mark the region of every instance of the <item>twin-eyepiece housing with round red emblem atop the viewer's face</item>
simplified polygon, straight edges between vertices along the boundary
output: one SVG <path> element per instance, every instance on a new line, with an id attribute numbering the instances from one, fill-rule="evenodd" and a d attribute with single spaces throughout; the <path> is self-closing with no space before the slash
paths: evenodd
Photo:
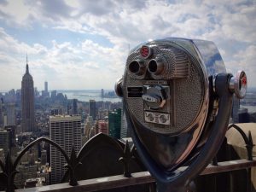
<path id="1" fill-rule="evenodd" d="M 178 79 L 189 75 L 189 58 L 178 49 L 144 45 L 139 53 L 127 65 L 134 79 Z"/>

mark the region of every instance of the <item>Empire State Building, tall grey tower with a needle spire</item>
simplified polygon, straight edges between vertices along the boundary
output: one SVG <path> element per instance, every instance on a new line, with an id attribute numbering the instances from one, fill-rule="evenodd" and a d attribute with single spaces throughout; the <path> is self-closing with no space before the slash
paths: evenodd
<path id="1" fill-rule="evenodd" d="M 21 128 L 22 132 L 35 131 L 34 83 L 26 58 L 26 73 L 21 81 Z"/>

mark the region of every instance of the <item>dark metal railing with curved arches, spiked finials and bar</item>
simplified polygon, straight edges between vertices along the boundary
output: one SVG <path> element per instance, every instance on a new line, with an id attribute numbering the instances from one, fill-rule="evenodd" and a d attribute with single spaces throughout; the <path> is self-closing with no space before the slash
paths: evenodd
<path id="1" fill-rule="evenodd" d="M 247 148 L 247 160 L 230 160 L 230 161 L 224 161 L 224 162 L 217 162 L 217 160 L 214 160 L 214 163 L 212 165 L 207 166 L 207 168 L 201 172 L 201 175 L 208 175 L 208 174 L 214 174 L 214 173 L 220 173 L 220 172 L 232 172 L 235 170 L 241 170 L 241 169 L 250 169 L 253 166 L 256 166 L 256 159 L 253 158 L 253 138 L 251 135 L 251 132 L 249 131 L 246 135 L 244 131 L 241 130 L 241 128 L 237 125 L 230 125 L 228 129 L 235 128 L 243 138 L 245 142 L 245 146 Z M 15 174 L 17 173 L 17 166 L 20 162 L 21 157 L 28 151 L 32 146 L 34 146 L 37 143 L 49 143 L 58 150 L 60 150 L 61 154 L 65 157 L 67 160 L 67 168 L 68 168 L 68 174 L 69 174 L 69 183 L 59 183 L 59 184 L 53 184 L 53 185 L 47 185 L 39 188 L 31 188 L 31 189 L 15 189 Z M 93 179 L 87 179 L 87 180 L 81 180 L 78 181 L 76 177 L 76 167 L 80 164 L 79 155 L 75 154 L 74 148 L 72 149 L 72 153 L 70 157 L 68 157 L 65 150 L 61 148 L 57 143 L 50 140 L 49 138 L 45 137 L 39 137 L 32 143 L 29 143 L 26 148 L 24 148 L 18 157 L 15 159 L 15 162 L 12 163 L 12 160 L 10 158 L 10 155 L 8 154 L 5 158 L 5 162 L 3 163 L 0 160 L 0 166 L 2 168 L 2 173 L 0 174 L 0 179 L 3 179 L 4 183 L 4 191 L 5 192 L 15 192 L 15 191 L 22 191 L 22 192 L 30 192 L 30 191 L 99 191 L 102 189 L 116 189 L 121 187 L 128 187 L 132 185 L 139 185 L 139 184 L 145 184 L 150 183 L 150 191 L 154 191 L 154 177 L 150 175 L 149 172 L 136 172 L 131 173 L 130 172 L 130 161 L 133 157 L 133 154 L 135 152 L 134 146 L 132 148 L 129 147 L 128 142 L 125 143 L 125 149 L 123 152 L 123 155 L 119 158 L 119 161 L 123 162 L 124 167 L 124 174 L 118 175 L 118 176 L 112 176 L 112 177 L 101 177 L 101 178 L 93 178 Z M 186 166 L 180 167 L 180 170 L 186 169 Z M 251 174 L 251 172 L 249 172 Z"/>

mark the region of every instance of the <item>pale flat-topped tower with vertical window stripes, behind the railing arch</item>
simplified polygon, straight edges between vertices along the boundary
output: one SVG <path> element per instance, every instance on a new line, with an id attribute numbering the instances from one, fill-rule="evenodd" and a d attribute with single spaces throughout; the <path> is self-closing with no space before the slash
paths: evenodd
<path id="1" fill-rule="evenodd" d="M 76 154 L 82 146 L 80 116 L 49 116 L 49 137 L 70 156 L 74 146 Z M 64 156 L 55 147 L 50 146 L 51 183 L 60 183 L 66 164 Z"/>

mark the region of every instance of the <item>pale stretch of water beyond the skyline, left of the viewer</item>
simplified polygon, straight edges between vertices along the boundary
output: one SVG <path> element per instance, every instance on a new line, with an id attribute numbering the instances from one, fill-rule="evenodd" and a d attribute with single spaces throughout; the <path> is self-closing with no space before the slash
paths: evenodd
<path id="1" fill-rule="evenodd" d="M 113 90 L 104 90 L 104 93 L 108 93 Z M 101 90 L 57 90 L 57 93 L 63 93 L 67 95 L 68 99 L 78 99 L 81 102 L 89 102 L 90 99 L 94 99 L 96 102 L 121 102 L 119 97 L 105 97 L 102 98 Z"/>

